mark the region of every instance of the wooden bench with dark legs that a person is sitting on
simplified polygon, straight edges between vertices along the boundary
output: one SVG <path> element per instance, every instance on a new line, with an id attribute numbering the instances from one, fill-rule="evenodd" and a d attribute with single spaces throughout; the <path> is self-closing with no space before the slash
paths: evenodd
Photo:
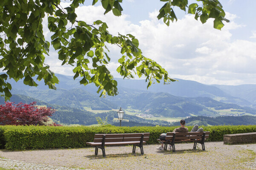
<path id="1" fill-rule="evenodd" d="M 175 152 L 175 143 L 176 142 L 194 142 L 193 149 L 196 149 L 197 143 L 202 144 L 202 149 L 205 150 L 204 140 L 209 138 L 210 132 L 168 132 L 166 134 L 166 141 L 157 139 L 165 143 L 164 150 L 167 150 L 167 145 L 172 145 L 172 151 Z"/>

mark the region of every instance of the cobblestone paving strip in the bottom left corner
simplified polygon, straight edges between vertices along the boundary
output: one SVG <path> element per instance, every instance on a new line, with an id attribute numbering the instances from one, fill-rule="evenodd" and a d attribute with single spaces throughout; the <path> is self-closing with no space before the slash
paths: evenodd
<path id="1" fill-rule="evenodd" d="M 0 165 L 3 168 L 12 168 L 16 170 L 81 170 L 79 168 L 70 168 L 70 167 L 56 167 L 44 164 L 32 164 L 22 161 L 14 161 L 10 159 L 0 158 Z M 85 169 L 89 170 L 89 169 Z"/>

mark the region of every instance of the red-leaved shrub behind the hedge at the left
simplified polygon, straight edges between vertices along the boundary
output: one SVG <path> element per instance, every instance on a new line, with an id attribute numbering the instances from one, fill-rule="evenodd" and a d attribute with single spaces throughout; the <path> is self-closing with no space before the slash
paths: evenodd
<path id="1" fill-rule="evenodd" d="M 46 125 L 55 112 L 52 108 L 37 108 L 36 102 L 30 104 L 5 102 L 0 105 L 0 125 Z"/>

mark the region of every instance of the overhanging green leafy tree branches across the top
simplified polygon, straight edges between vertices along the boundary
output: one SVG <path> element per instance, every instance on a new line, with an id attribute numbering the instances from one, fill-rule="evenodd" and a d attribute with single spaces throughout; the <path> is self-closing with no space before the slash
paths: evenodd
<path id="1" fill-rule="evenodd" d="M 188 4 L 188 0 L 160 0 L 165 2 L 159 10 L 158 19 L 163 18 L 169 26 L 170 21 L 177 21 L 174 7 L 177 6 L 195 19 L 205 23 L 214 18 L 214 28 L 221 29 L 225 12 L 218 0 L 197 0 L 199 3 Z M 98 0 L 93 0 L 95 5 Z M 111 57 L 108 56 L 108 44 L 120 47 L 119 67 L 117 71 L 124 78 L 145 76 L 148 87 L 155 80 L 165 83 L 175 81 L 157 62 L 142 55 L 139 41 L 131 34 L 112 35 L 108 26 L 101 20 L 85 23 L 77 20 L 76 8 L 84 0 L 71 0 L 70 6 L 62 8 L 61 0 L 0 0 L 0 68 L 6 71 L 0 75 L 0 92 L 5 98 L 12 96 L 12 86 L 8 79 L 29 86 L 37 86 L 32 77 L 38 81 L 44 79 L 45 85 L 56 89 L 58 78 L 44 63 L 45 55 L 49 55 L 50 44 L 58 51 L 58 59 L 62 65 L 73 65 L 74 79 L 81 77 L 80 83 L 94 83 L 98 93 L 117 95 L 117 82 L 106 67 Z M 98 2 L 99 3 L 99 2 Z M 122 0 L 101 0 L 105 13 L 112 11 L 114 15 L 122 14 Z M 47 16 L 48 28 L 52 32 L 51 43 L 43 34 L 42 19 Z"/>

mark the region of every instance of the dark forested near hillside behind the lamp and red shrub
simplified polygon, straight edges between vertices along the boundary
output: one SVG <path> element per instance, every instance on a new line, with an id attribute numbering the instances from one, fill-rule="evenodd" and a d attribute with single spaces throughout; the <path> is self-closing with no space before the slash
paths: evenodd
<path id="1" fill-rule="evenodd" d="M 100 98 L 99 98 L 100 99 Z M 19 102 L 23 103 L 31 103 L 37 102 L 37 105 L 45 105 L 52 109 L 55 109 L 55 113 L 50 117 L 55 122 L 70 125 L 70 124 L 79 124 L 79 125 L 93 125 L 97 124 L 96 117 L 100 117 L 102 120 L 106 120 L 108 124 L 115 123 L 114 118 L 118 118 L 116 111 L 109 111 L 104 113 L 92 113 L 90 111 L 85 111 L 84 109 L 70 107 L 70 106 L 60 106 L 55 104 L 49 104 L 46 102 L 42 102 L 38 99 L 31 98 L 29 96 L 24 95 L 16 95 L 14 94 L 11 98 L 11 102 L 15 102 L 16 104 Z M 93 103 L 93 102 L 91 102 Z M 0 97 L 0 104 L 4 104 L 3 97 Z M 125 114 L 124 119 L 128 120 L 129 125 L 169 125 L 169 122 L 160 121 L 160 120 L 148 120 L 144 118 L 140 118 L 134 115 Z"/>

